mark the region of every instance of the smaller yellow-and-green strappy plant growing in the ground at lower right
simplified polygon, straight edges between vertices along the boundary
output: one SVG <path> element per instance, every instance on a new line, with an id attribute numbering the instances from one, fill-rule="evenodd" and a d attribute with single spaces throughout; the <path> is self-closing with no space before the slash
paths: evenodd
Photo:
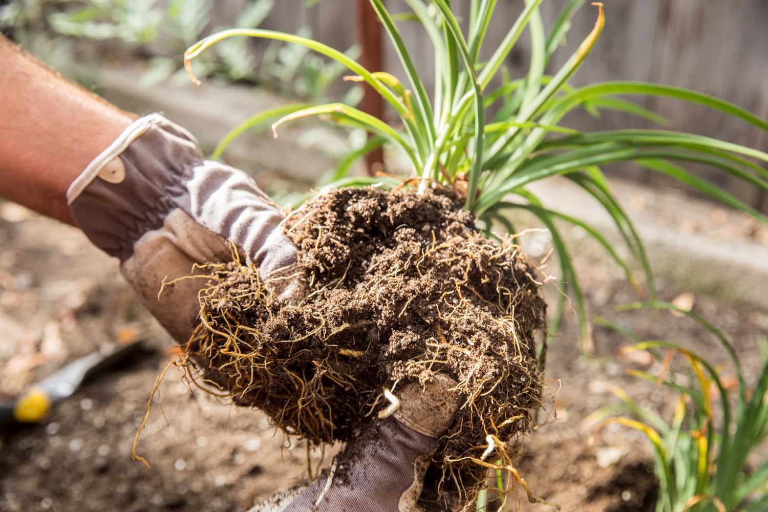
<path id="1" fill-rule="evenodd" d="M 674 418 L 666 421 L 653 411 L 637 405 L 624 391 L 614 388 L 621 399 L 618 405 L 602 408 L 591 415 L 601 424 L 618 423 L 643 432 L 651 442 L 656 461 L 660 492 L 657 512 L 703 510 L 742 510 L 760 512 L 768 508 L 768 461 L 750 467 L 748 459 L 768 438 L 768 357 L 753 388 L 746 385 L 741 364 L 733 346 L 722 332 L 699 315 L 684 312 L 665 302 L 628 306 L 650 307 L 687 315 L 703 325 L 726 349 L 737 374 L 737 398 L 723 382 L 720 372 L 697 353 L 665 340 L 645 341 L 605 320 L 601 325 L 631 336 L 636 342 L 625 351 L 647 350 L 657 355 L 667 350 L 662 375 L 632 370 L 630 373 L 650 382 L 662 382 L 679 398 Z M 668 372 L 672 357 L 683 355 L 690 365 L 684 382 Z M 735 402 L 735 411 L 733 404 Z M 717 408 L 721 418 L 717 417 Z M 629 414 L 626 416 L 615 416 Z"/>

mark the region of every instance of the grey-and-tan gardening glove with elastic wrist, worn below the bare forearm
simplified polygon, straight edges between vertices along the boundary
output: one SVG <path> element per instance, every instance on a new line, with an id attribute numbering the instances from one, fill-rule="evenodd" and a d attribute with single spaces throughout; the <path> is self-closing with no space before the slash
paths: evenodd
<path id="1" fill-rule="evenodd" d="M 281 269 L 296 261 L 296 248 L 278 227 L 280 210 L 256 183 L 204 160 L 187 130 L 159 114 L 127 127 L 71 183 L 67 202 L 75 223 L 120 259 L 141 302 L 178 342 L 197 324 L 204 274 L 180 279 L 158 297 L 164 281 L 190 276 L 195 264 L 239 256 L 278 282 Z"/>

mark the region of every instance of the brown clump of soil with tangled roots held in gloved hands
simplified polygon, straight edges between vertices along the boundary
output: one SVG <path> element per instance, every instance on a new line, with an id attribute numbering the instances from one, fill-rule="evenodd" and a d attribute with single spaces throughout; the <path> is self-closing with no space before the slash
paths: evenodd
<path id="1" fill-rule="evenodd" d="M 286 299 L 240 263 L 209 266 L 187 347 L 206 378 L 320 444 L 356 438 L 387 405 L 383 388 L 451 375 L 465 401 L 433 466 L 468 503 L 485 484 L 487 436 L 499 441 L 488 461 L 511 467 L 504 441 L 539 403 L 534 266 L 513 243 L 485 239 L 442 190 L 333 190 L 283 229 L 299 250 L 280 282 L 306 293 Z"/>

